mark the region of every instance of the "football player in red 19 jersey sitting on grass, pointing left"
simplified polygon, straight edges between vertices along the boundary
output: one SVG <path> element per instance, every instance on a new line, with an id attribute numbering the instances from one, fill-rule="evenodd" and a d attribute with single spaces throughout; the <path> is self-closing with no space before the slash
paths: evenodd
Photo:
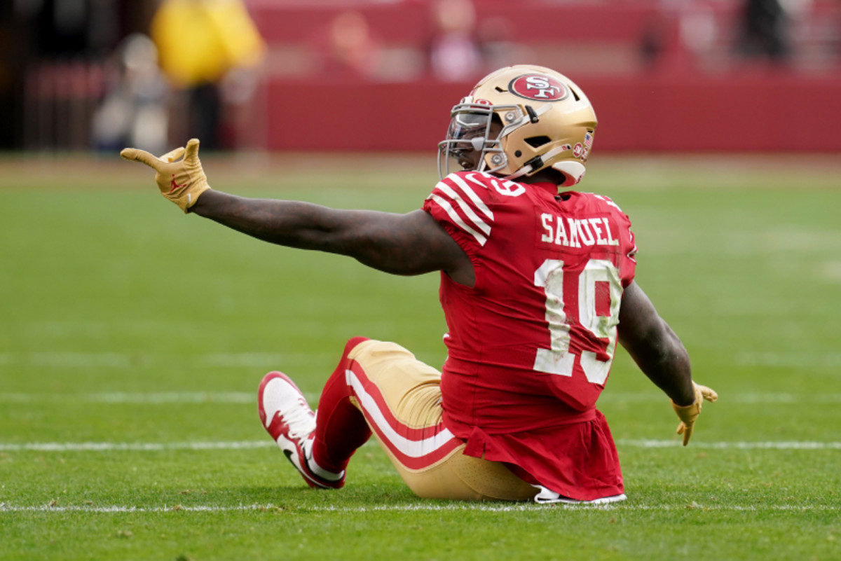
<path id="1" fill-rule="evenodd" d="M 336 210 L 212 190 L 198 140 L 156 158 L 184 212 L 274 244 L 349 255 L 397 275 L 441 271 L 442 371 L 396 343 L 352 338 L 315 415 L 288 375 L 258 390 L 263 427 L 312 487 L 340 488 L 373 434 L 416 495 L 605 503 L 625 499 L 595 408 L 616 343 L 669 396 L 689 442 L 704 400 L 680 339 L 634 282 L 631 223 L 574 191 L 596 118 L 568 77 L 540 66 L 486 76 L 452 109 L 441 181 L 407 214 Z M 453 163 L 462 170 L 450 172 Z"/>

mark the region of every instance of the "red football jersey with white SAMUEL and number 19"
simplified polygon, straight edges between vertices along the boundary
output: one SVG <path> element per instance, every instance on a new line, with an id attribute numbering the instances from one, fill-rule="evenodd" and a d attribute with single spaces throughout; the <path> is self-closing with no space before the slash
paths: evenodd
<path id="1" fill-rule="evenodd" d="M 636 265 L 627 216 L 607 197 L 475 171 L 444 178 L 423 208 L 476 275 L 468 288 L 442 273 L 440 288 L 444 422 L 465 454 L 574 499 L 620 494 L 595 401 Z"/>

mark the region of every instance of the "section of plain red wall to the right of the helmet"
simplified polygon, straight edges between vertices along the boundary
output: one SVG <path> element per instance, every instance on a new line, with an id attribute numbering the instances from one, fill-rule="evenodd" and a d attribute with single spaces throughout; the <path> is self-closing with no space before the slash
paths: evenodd
<path id="1" fill-rule="evenodd" d="M 841 151 L 841 77 L 810 80 L 784 73 L 585 83 L 603 149 Z"/>

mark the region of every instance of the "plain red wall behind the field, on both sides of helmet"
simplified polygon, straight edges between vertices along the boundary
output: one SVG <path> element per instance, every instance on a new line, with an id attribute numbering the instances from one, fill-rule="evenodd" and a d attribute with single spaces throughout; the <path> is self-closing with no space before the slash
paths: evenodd
<path id="1" fill-rule="evenodd" d="M 589 77 L 605 150 L 841 151 L 841 77 Z M 269 149 L 428 150 L 472 84 L 268 84 Z"/>

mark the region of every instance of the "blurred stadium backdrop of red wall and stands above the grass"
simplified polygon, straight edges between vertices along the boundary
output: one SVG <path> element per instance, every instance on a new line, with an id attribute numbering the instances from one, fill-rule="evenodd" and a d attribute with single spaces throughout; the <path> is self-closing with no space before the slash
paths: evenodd
<path id="1" fill-rule="evenodd" d="M 841 150 L 836 0 L 8 0 L 0 149 L 430 150 L 524 61 L 597 154 Z"/>

